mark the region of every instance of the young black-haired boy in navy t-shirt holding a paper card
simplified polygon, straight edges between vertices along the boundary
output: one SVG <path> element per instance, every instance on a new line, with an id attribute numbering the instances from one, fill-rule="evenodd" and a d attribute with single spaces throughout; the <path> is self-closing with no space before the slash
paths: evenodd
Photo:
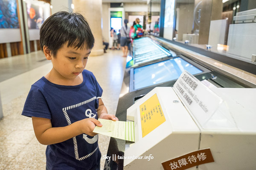
<path id="1" fill-rule="evenodd" d="M 40 46 L 52 70 L 32 85 L 22 115 L 32 117 L 35 136 L 47 144 L 47 170 L 99 170 L 97 120 L 118 120 L 102 102 L 102 88 L 84 70 L 94 37 L 84 17 L 58 12 L 40 30 Z"/>

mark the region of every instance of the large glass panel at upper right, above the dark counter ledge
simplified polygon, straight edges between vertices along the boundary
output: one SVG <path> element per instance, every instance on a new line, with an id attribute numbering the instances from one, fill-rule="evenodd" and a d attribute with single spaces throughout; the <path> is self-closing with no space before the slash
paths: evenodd
<path id="1" fill-rule="evenodd" d="M 175 11 L 174 40 L 252 62 L 256 0 L 177 0 Z"/>

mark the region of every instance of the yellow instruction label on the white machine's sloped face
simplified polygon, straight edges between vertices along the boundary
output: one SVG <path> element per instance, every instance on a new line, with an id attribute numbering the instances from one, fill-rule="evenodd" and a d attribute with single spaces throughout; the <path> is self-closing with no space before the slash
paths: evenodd
<path id="1" fill-rule="evenodd" d="M 154 94 L 140 105 L 142 137 L 166 121 L 157 94 Z"/>

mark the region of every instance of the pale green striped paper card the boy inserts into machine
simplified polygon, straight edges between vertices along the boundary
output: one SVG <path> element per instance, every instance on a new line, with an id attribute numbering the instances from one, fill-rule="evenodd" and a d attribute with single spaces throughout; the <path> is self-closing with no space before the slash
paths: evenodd
<path id="1" fill-rule="evenodd" d="M 94 133 L 134 142 L 134 122 L 98 119 L 102 127 L 96 126 Z"/>

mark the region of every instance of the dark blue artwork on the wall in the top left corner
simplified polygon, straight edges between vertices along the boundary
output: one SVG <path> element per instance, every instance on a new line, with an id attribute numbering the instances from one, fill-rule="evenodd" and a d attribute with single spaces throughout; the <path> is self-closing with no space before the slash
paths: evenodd
<path id="1" fill-rule="evenodd" d="M 0 28 L 19 28 L 16 0 L 0 0 Z"/>

